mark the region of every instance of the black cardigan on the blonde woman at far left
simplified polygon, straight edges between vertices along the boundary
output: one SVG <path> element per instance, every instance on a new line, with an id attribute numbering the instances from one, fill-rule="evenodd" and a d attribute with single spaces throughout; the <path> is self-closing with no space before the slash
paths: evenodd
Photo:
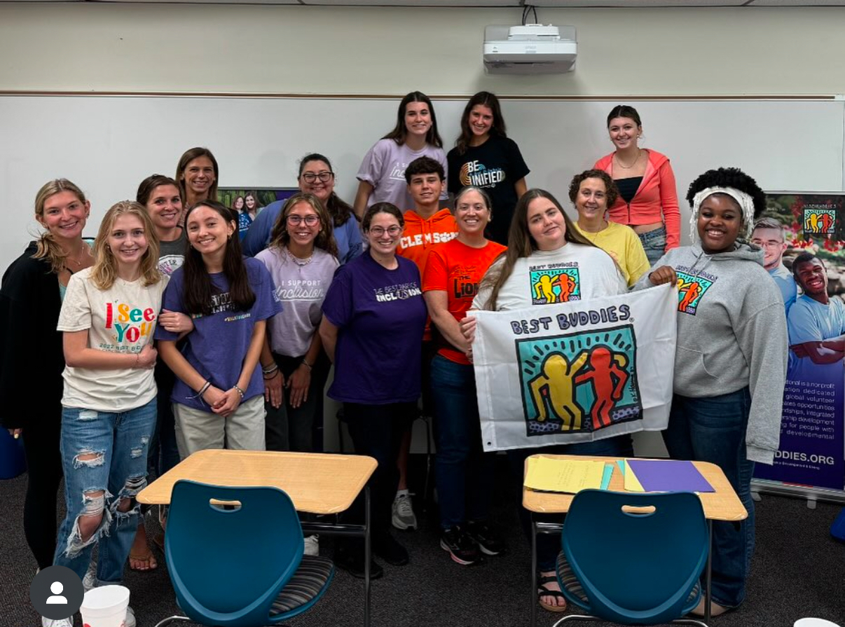
<path id="1" fill-rule="evenodd" d="M 56 330 L 62 309 L 58 276 L 46 259 L 25 253 L 0 287 L 0 423 L 35 428 L 62 420 L 64 352 Z"/>

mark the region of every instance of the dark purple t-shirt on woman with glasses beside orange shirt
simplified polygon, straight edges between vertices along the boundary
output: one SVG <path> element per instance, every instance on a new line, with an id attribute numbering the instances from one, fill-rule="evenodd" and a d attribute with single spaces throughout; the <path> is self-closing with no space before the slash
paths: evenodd
<path id="1" fill-rule="evenodd" d="M 323 303 L 338 327 L 336 401 L 385 405 L 416 401 L 427 309 L 420 272 L 410 259 L 396 257 L 387 270 L 368 252 L 342 265 Z"/>

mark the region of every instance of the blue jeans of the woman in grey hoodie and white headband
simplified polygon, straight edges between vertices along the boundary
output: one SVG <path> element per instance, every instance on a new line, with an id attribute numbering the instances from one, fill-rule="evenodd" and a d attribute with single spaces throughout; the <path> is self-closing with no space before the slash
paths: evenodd
<path id="1" fill-rule="evenodd" d="M 754 462 L 745 455 L 745 429 L 751 408 L 748 388 L 709 398 L 674 395 L 663 441 L 676 460 L 716 464 L 748 511 L 739 523 L 713 523 L 713 601 L 736 608 L 745 598 L 751 554 L 754 553 Z"/>

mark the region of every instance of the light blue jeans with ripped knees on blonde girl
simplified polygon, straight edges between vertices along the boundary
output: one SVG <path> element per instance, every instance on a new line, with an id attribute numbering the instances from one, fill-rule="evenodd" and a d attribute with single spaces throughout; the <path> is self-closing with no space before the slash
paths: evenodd
<path id="1" fill-rule="evenodd" d="M 134 498 L 147 484 L 147 450 L 153 428 L 155 399 L 127 412 L 63 407 L 62 464 L 68 514 L 58 530 L 53 564 L 67 566 L 82 579 L 96 544 L 98 585 L 123 580 L 123 565 L 139 522 L 139 504 Z M 121 511 L 127 506 L 127 511 Z"/>

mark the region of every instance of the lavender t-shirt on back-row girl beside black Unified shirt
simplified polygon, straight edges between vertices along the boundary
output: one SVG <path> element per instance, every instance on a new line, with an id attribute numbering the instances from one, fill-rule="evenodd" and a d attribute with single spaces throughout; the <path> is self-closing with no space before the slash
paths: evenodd
<path id="1" fill-rule="evenodd" d="M 376 203 L 392 203 L 403 211 L 413 209 L 414 201 L 408 194 L 405 168 L 411 161 L 421 156 L 428 156 L 439 161 L 443 166 L 443 171 L 447 171 L 446 153 L 442 148 L 426 144 L 423 150 L 411 150 L 406 144 L 396 144 L 393 139 L 379 139 L 364 155 L 364 160 L 356 175 L 359 181 L 366 181 L 374 188 L 367 206 Z M 449 198 L 445 181 L 440 198 Z"/>

